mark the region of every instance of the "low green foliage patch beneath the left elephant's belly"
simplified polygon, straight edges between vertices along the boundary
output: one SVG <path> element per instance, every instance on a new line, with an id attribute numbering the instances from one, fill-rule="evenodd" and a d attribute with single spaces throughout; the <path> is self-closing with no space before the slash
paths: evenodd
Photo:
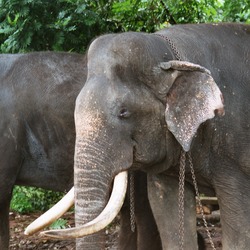
<path id="1" fill-rule="evenodd" d="M 10 208 L 19 213 L 46 211 L 62 198 L 60 192 L 15 186 Z"/>

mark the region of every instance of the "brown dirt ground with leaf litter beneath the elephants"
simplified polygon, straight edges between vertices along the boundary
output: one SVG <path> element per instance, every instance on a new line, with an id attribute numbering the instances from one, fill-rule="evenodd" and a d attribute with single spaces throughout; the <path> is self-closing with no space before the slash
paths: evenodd
<path id="1" fill-rule="evenodd" d="M 19 250 L 19 249 L 46 249 L 46 250 L 74 250 L 75 242 L 74 240 L 70 241 L 57 241 L 57 240 L 46 240 L 40 238 L 38 234 L 33 236 L 25 236 L 23 234 L 24 229 L 41 213 L 31 213 L 31 214 L 10 214 L 10 229 L 11 229 L 11 239 L 10 239 L 10 250 Z M 74 226 L 74 214 L 66 213 L 63 217 L 68 221 L 68 226 Z M 221 228 L 219 223 L 208 223 L 209 231 L 213 238 L 214 245 L 217 250 L 222 249 L 221 247 Z M 119 225 L 116 223 L 109 230 L 106 230 L 107 235 L 107 249 L 116 249 L 115 240 L 117 238 Z M 204 250 L 210 250 L 212 247 L 209 244 L 208 237 L 206 235 L 205 229 L 202 226 L 202 223 L 197 221 L 197 229 L 200 234 L 205 239 L 206 246 Z M 110 243 L 111 242 L 111 243 Z"/>

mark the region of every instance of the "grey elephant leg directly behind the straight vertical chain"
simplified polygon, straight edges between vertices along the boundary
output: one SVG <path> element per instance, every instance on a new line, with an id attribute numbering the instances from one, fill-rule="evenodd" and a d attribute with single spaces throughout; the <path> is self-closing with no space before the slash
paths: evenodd
<path id="1" fill-rule="evenodd" d="M 178 179 L 163 174 L 148 175 L 149 201 L 164 250 L 179 249 Z M 184 248 L 198 249 L 195 196 L 185 185 Z"/>

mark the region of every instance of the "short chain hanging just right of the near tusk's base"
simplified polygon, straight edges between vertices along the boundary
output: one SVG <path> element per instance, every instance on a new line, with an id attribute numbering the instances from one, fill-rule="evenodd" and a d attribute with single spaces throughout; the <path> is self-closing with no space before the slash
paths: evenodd
<path id="1" fill-rule="evenodd" d="M 135 181 L 134 173 L 129 175 L 129 210 L 130 210 L 130 228 L 135 232 Z"/>

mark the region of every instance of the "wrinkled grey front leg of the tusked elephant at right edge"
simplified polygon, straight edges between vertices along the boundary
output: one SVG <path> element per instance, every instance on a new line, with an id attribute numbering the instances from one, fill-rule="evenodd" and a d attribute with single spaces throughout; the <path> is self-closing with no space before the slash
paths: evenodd
<path id="1" fill-rule="evenodd" d="M 220 169 L 227 171 L 222 173 Z M 214 185 L 220 207 L 223 250 L 249 249 L 249 176 L 236 166 L 220 165 L 220 169 L 214 174 Z"/>

